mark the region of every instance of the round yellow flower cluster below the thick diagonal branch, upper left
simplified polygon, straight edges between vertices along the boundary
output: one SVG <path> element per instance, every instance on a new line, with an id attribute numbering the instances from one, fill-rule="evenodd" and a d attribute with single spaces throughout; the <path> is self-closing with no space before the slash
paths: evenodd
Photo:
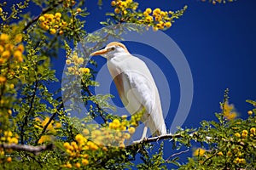
<path id="1" fill-rule="evenodd" d="M 49 31 L 50 34 L 59 33 L 62 35 L 65 28 L 67 27 L 67 22 L 61 20 L 61 13 L 55 14 L 44 14 L 39 17 L 39 26 L 45 31 Z"/>

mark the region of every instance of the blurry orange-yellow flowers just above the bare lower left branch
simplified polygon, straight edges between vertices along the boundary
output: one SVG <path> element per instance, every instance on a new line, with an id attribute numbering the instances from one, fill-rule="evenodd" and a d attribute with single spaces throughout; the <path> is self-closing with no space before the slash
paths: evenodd
<path id="1" fill-rule="evenodd" d="M 42 119 L 40 119 L 39 117 L 35 118 L 35 125 L 34 127 L 38 128 L 38 129 L 43 129 L 46 124 L 49 122 L 49 117 L 45 117 L 44 121 Z M 55 122 L 55 121 L 51 121 L 49 122 L 49 125 L 47 127 L 46 130 L 48 130 L 50 133 L 56 133 L 55 128 L 60 128 L 61 127 L 61 123 L 60 122 Z M 38 140 L 38 144 L 43 144 L 44 142 L 50 141 L 51 137 L 49 135 L 43 135 L 41 136 L 41 138 Z"/>

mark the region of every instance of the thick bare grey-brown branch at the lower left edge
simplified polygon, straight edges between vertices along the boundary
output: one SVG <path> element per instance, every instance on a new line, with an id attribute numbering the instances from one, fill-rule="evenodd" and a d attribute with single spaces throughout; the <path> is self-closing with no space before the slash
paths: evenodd
<path id="1" fill-rule="evenodd" d="M 19 150 L 19 151 L 28 151 L 35 155 L 38 155 L 40 152 L 44 150 L 54 150 L 55 145 L 47 144 L 47 145 L 41 145 L 41 146 L 32 146 L 28 144 L 0 144 L 0 148 Z"/>

